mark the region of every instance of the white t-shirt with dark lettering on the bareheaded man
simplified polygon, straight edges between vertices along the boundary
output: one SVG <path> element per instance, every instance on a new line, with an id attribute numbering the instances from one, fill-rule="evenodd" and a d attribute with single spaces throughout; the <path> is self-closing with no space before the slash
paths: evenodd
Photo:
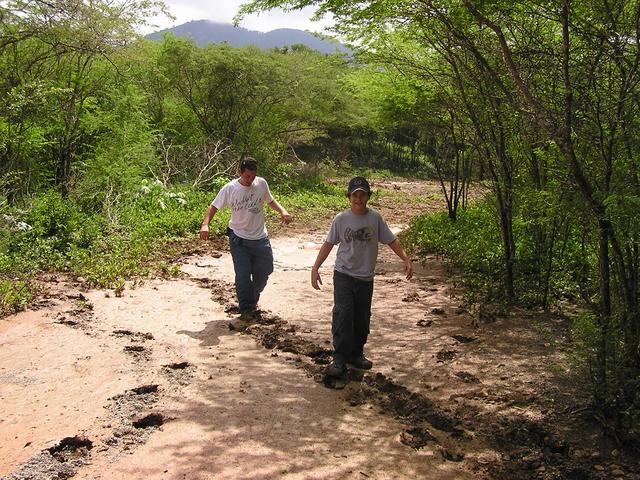
<path id="1" fill-rule="evenodd" d="M 269 184 L 264 178 L 256 177 L 248 187 L 236 178 L 220 189 L 211 205 L 218 210 L 231 208 L 229 228 L 237 236 L 246 240 L 259 240 L 267 236 L 264 204 L 272 201 Z"/>

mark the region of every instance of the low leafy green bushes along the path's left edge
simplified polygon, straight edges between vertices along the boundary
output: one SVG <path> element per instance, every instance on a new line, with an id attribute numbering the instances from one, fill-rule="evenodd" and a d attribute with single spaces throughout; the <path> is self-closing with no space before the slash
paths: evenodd
<path id="1" fill-rule="evenodd" d="M 147 275 L 147 259 L 164 240 L 199 230 L 210 201 L 211 194 L 145 182 L 139 192 L 115 205 L 109 221 L 97 213 L 84 213 L 55 191 L 46 192 L 25 212 L 5 209 L 3 218 L 8 220 L 0 222 L 0 278 L 28 279 L 53 269 L 82 277 L 89 285 L 111 287 L 123 278 Z M 212 231 L 221 233 L 227 218 L 224 212 L 216 216 Z M 15 228 L 18 223 L 24 228 Z M 7 305 L 24 305 L 16 303 L 10 290 L 3 295 Z"/>

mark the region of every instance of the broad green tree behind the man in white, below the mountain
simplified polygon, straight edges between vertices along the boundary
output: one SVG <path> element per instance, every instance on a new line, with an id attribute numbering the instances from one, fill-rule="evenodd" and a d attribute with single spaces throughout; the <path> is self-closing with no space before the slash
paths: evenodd
<path id="1" fill-rule="evenodd" d="M 222 162 L 227 165 L 247 152 L 298 161 L 298 149 L 309 153 L 330 129 L 359 118 L 336 80 L 348 70 L 340 55 L 302 46 L 268 52 L 226 44 L 199 48 L 168 36 L 155 62 L 161 80 L 143 88 L 163 139 L 183 157 L 201 156 L 188 153 L 196 148 L 223 151 L 233 157 Z"/>

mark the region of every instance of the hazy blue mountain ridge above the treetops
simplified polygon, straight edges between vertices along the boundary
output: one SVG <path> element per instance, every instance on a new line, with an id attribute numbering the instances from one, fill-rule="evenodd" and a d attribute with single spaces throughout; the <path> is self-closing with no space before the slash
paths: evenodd
<path id="1" fill-rule="evenodd" d="M 150 40 L 160 40 L 165 33 L 173 33 L 176 37 L 191 38 L 200 47 L 209 43 L 227 42 L 234 47 L 255 45 L 263 50 L 268 50 L 274 47 L 302 44 L 321 53 L 334 53 L 336 50 L 347 54 L 351 53 L 351 50 L 337 41 L 321 39 L 304 30 L 279 28 L 263 33 L 209 20 L 194 20 L 151 33 L 146 37 Z"/>

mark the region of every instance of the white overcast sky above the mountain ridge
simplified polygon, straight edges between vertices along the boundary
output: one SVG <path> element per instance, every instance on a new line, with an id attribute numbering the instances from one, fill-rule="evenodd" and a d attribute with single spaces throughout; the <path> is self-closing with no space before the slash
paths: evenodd
<path id="1" fill-rule="evenodd" d="M 246 2 L 244 0 L 165 0 L 165 3 L 176 19 L 171 21 L 166 18 L 158 18 L 153 22 L 158 27 L 152 30 L 170 28 L 191 20 L 212 20 L 214 22 L 231 23 L 238 12 L 239 6 Z M 259 15 L 246 16 L 240 26 L 260 32 L 269 32 L 276 28 L 297 28 L 321 32 L 325 26 L 330 24 L 327 19 L 312 22 L 310 20 L 312 15 L 313 9 L 311 8 L 292 12 L 271 10 Z"/>

